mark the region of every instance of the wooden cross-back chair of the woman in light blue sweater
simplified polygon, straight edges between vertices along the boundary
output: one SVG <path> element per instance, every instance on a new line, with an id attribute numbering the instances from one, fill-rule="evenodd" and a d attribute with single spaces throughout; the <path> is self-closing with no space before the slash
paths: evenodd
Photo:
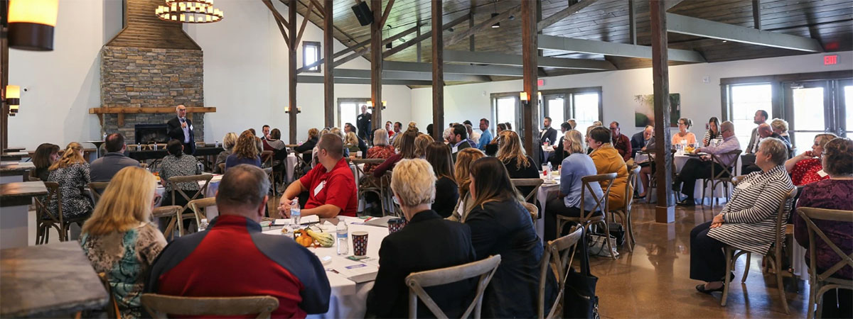
<path id="1" fill-rule="evenodd" d="M 613 179 L 616 179 L 616 173 L 609 174 L 596 174 L 583 176 L 581 178 L 581 182 L 583 182 L 583 187 L 581 188 L 581 204 L 580 211 L 581 214 L 579 217 L 568 217 L 557 214 L 557 236 L 563 233 L 563 226 L 568 222 L 575 222 L 581 225 L 581 228 L 584 230 L 589 229 L 591 231 L 591 227 L 593 225 L 602 225 L 604 226 L 605 236 L 609 236 L 610 227 L 607 225 L 607 220 L 605 215 L 608 211 L 610 211 L 609 201 L 607 201 L 607 197 L 610 196 L 610 187 L 613 185 Z M 601 185 L 601 182 L 606 182 L 607 186 L 602 187 L 601 189 L 601 197 L 595 195 L 595 191 L 593 191 L 593 183 Z M 586 210 L 586 197 L 587 192 L 589 192 L 589 196 L 593 198 L 595 201 L 595 207 Z M 596 212 L 598 214 L 596 214 Z M 613 248 L 611 246 L 609 238 L 606 240 L 607 242 L 607 252 L 610 253 L 612 259 L 616 259 L 616 255 L 613 254 Z"/>

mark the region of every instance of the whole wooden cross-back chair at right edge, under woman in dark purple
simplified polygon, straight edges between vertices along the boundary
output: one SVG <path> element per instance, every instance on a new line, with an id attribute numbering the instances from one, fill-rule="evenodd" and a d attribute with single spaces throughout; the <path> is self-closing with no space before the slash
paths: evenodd
<path id="1" fill-rule="evenodd" d="M 838 223 L 853 223 L 853 211 L 840 209 L 826 208 L 797 208 L 797 214 L 803 218 L 806 226 L 809 228 L 809 308 L 806 308 L 806 313 L 809 319 L 815 317 L 815 305 L 817 306 L 817 316 L 822 315 L 823 294 L 831 289 L 853 289 L 853 280 L 834 276 L 844 267 L 853 267 L 853 254 L 844 253 L 841 248 L 838 248 L 832 242 L 827 234 L 824 233 L 818 225 L 815 225 L 815 220 L 832 221 Z M 816 235 L 816 236 L 815 236 Z M 817 269 L 817 248 L 815 245 L 818 238 L 826 244 L 833 253 L 841 259 L 824 270 L 818 273 Z M 848 300 L 849 301 L 849 300 Z"/>

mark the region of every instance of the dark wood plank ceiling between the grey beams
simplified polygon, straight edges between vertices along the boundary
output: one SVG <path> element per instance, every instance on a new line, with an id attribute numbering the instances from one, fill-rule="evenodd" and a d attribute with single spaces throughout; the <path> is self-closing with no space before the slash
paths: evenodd
<path id="1" fill-rule="evenodd" d="M 519 5 L 521 0 L 444 0 L 444 20 L 449 21 L 468 14 L 474 6 L 475 25 L 490 19 L 492 13 L 501 13 Z M 589 0 L 586 0 L 589 1 Z M 305 16 L 309 0 L 298 0 L 299 14 Z M 542 15 L 566 9 L 572 0 L 542 0 Z M 383 1 L 384 5 L 388 0 Z M 370 27 L 360 26 L 351 6 L 353 0 L 334 1 L 334 37 L 347 46 L 368 40 Z M 383 6 L 384 8 L 384 6 Z M 853 0 L 762 0 L 761 28 L 802 37 L 817 39 L 827 52 L 853 49 Z M 322 19 L 316 14 L 310 15 L 310 21 L 321 26 Z M 670 13 L 688 17 L 712 20 L 734 26 L 753 26 L 751 0 L 687 0 L 670 9 Z M 635 1 L 637 44 L 651 45 L 649 29 L 648 2 Z M 396 0 L 386 23 L 384 37 L 391 37 L 405 31 L 420 21 L 421 32 L 430 30 L 430 0 Z M 500 28 L 488 28 L 476 34 L 475 51 L 497 52 L 503 54 L 521 54 L 520 19 L 504 20 Z M 445 31 L 445 41 L 453 32 L 465 31 L 467 23 L 462 23 Z M 586 40 L 612 43 L 630 43 L 629 4 L 627 0 L 599 0 L 589 7 L 564 20 L 554 23 L 543 30 L 543 34 L 559 37 L 573 37 Z M 397 40 L 393 45 L 415 37 L 415 33 Z M 692 49 L 698 51 L 708 62 L 728 60 L 747 60 L 775 56 L 806 54 L 801 51 L 784 48 L 769 48 L 759 45 L 724 42 L 722 40 L 693 37 L 670 32 L 670 48 Z M 394 61 L 417 61 L 416 46 L 406 48 L 386 58 Z M 430 41 L 421 43 L 422 62 L 430 61 Z M 467 40 L 445 47 L 451 50 L 468 50 Z M 558 50 L 543 50 L 543 56 L 573 59 L 609 60 L 618 69 L 651 67 L 652 61 L 638 58 L 603 56 L 601 54 L 577 54 Z M 368 55 L 365 58 L 369 59 Z M 670 62 L 670 65 L 683 64 Z M 571 69 L 543 69 L 544 75 L 555 76 L 588 72 Z M 514 79 L 518 77 L 492 77 L 493 80 Z M 450 83 L 449 83 L 450 84 Z"/>

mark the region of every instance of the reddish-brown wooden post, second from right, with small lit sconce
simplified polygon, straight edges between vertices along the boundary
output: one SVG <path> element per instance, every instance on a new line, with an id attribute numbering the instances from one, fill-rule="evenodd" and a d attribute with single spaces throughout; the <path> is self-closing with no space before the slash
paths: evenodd
<path id="1" fill-rule="evenodd" d="M 537 79 L 539 76 L 537 63 L 539 54 L 537 52 L 537 3 L 538 1 L 521 2 L 521 55 L 524 66 L 524 90 L 528 96 L 528 102 L 522 103 L 521 119 L 523 121 L 525 135 L 525 151 L 533 158 L 533 162 L 539 160 L 538 135 L 539 125 L 539 101 L 537 99 Z M 538 165 L 538 164 L 537 164 Z M 538 169 L 538 168 L 537 168 Z"/>

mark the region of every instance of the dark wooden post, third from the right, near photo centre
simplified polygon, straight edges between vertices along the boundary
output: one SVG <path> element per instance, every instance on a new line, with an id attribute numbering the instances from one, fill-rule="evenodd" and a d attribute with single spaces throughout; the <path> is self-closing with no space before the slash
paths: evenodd
<path id="1" fill-rule="evenodd" d="M 444 132 L 444 32 L 441 1 L 432 1 L 432 139 Z"/>

